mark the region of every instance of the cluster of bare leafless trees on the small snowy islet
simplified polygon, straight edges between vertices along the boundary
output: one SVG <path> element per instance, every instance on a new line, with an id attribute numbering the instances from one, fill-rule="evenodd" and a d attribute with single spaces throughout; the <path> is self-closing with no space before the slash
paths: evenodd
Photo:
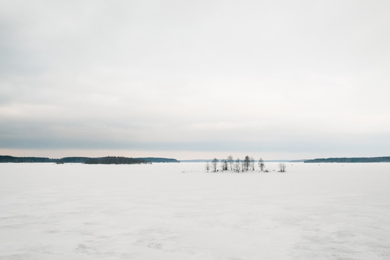
<path id="1" fill-rule="evenodd" d="M 220 169 L 218 168 L 218 162 L 220 163 Z M 234 172 L 247 172 L 247 171 L 254 171 L 254 164 L 255 161 L 253 157 L 245 156 L 244 160 L 240 160 L 237 158 L 236 160 L 233 159 L 233 156 L 229 156 L 227 159 L 222 159 L 219 161 L 218 159 L 214 158 L 211 162 L 206 162 L 205 164 L 205 170 L 206 171 L 213 171 L 217 172 L 219 170 L 227 171 L 231 170 Z M 261 172 L 269 172 L 268 169 L 265 168 L 264 160 L 260 158 L 258 160 L 258 166 L 260 168 Z M 286 164 L 281 162 L 279 163 L 279 172 L 286 172 Z"/>

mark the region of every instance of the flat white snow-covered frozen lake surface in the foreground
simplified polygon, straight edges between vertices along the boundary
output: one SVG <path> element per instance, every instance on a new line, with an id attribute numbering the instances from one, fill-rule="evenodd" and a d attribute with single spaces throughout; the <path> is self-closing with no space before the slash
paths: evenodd
<path id="1" fill-rule="evenodd" d="M 390 259 L 390 163 L 203 166 L 0 163 L 0 259 Z"/>

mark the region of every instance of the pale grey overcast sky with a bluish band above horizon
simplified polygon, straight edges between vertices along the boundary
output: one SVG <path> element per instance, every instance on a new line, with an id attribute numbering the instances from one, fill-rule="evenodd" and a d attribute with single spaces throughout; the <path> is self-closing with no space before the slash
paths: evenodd
<path id="1" fill-rule="evenodd" d="M 390 156 L 390 1 L 0 0 L 0 154 Z"/>

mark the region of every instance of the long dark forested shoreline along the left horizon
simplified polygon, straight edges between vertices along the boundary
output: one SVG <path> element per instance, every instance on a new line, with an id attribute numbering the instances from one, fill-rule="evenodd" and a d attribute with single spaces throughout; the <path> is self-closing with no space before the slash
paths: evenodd
<path id="1" fill-rule="evenodd" d="M 107 159 L 111 158 L 111 159 Z M 114 160 L 112 158 L 125 158 L 125 159 L 117 159 Z M 42 157 L 14 157 L 9 155 L 0 155 L 0 163 L 1 162 L 55 162 L 55 163 L 88 163 L 90 162 L 100 162 L 100 161 L 123 161 L 123 164 L 132 164 L 128 163 L 128 161 L 135 161 L 134 163 L 147 163 L 150 162 L 180 162 L 176 159 L 168 159 L 168 158 L 155 158 L 155 157 L 147 157 L 147 158 L 128 158 L 128 157 L 100 157 L 100 158 L 91 158 L 91 157 L 64 157 L 61 159 L 50 159 L 50 158 L 42 158 Z M 111 164 L 111 163 L 108 163 Z M 113 164 L 118 164 L 114 162 Z"/>

